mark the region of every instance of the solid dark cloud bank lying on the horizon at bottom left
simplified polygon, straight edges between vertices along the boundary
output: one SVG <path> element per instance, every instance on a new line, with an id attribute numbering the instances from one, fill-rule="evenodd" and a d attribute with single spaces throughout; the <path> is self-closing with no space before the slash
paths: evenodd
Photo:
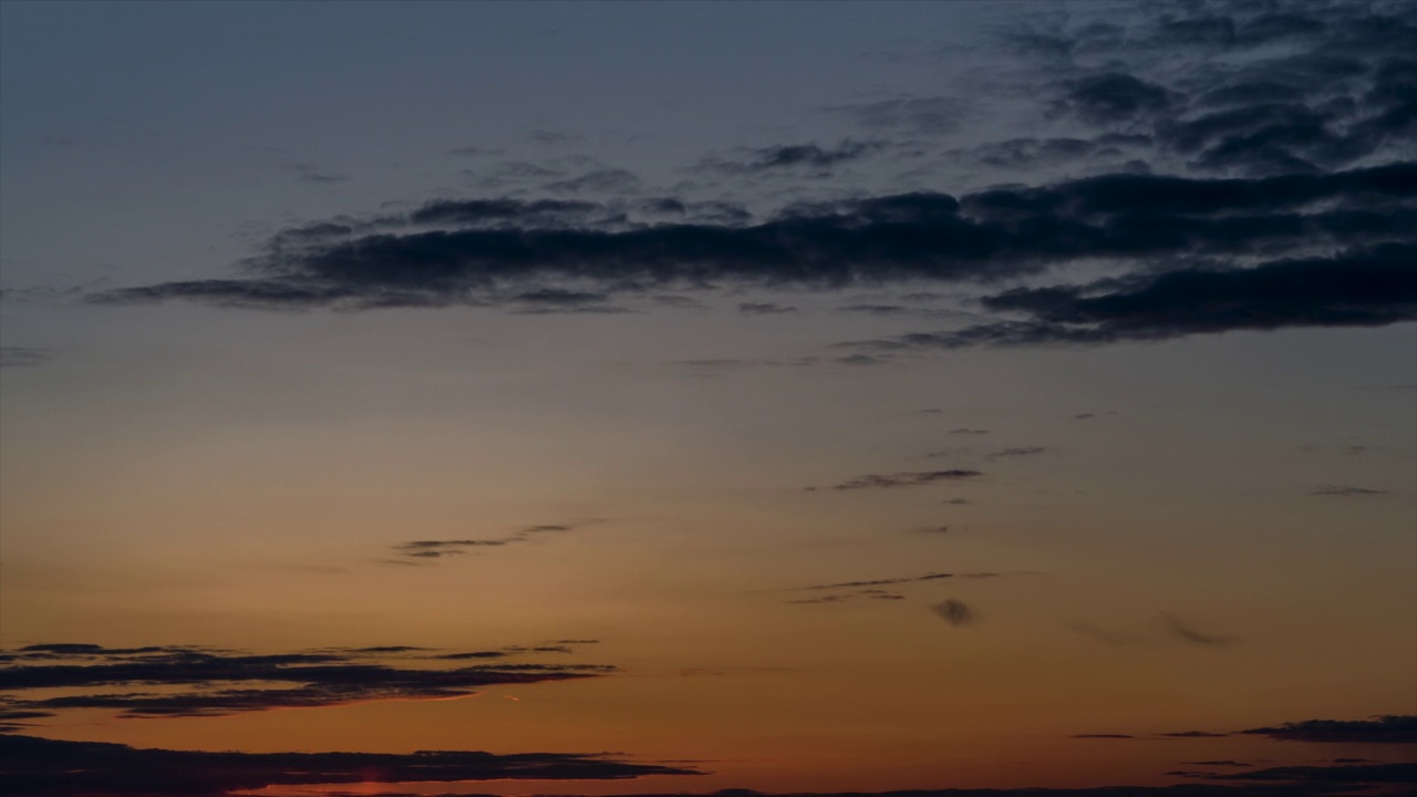
<path id="1" fill-rule="evenodd" d="M 0 791 L 33 797 L 221 797 L 266 786 L 615 780 L 649 774 L 699 773 L 584 753 L 210 753 L 0 735 Z"/>

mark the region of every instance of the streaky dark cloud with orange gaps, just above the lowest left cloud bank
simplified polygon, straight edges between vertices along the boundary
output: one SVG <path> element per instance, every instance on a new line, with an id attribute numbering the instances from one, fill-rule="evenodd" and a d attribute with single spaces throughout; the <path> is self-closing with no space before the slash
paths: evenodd
<path id="1" fill-rule="evenodd" d="M 30 645 L 4 651 L 0 659 L 0 722 L 68 709 L 108 709 L 120 718 L 222 716 L 368 701 L 452 699 L 476 695 L 482 686 L 592 678 L 615 669 L 598 664 L 419 664 L 567 651 L 544 645 L 442 654 L 381 647 L 249 655 L 197 647 Z M 183 689 L 171 691 L 174 686 Z M 160 691 L 135 691 L 142 688 Z M 37 689 L 84 692 L 33 695 Z"/>

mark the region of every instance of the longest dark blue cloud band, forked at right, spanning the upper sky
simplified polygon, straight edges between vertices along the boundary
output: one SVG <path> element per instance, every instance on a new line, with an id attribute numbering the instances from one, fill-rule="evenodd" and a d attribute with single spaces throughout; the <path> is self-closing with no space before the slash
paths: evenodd
<path id="1" fill-rule="evenodd" d="M 1413 186 L 1414 165 L 1258 180 L 1108 176 L 964 200 L 911 193 L 801 206 L 748 225 L 628 228 L 616 228 L 619 216 L 594 203 L 436 201 L 353 237 L 278 234 L 245 264 L 252 271 L 247 279 L 123 288 L 94 301 L 360 309 L 503 303 L 538 289 L 635 296 L 657 286 L 990 282 L 1076 260 L 1149 262 L 1410 238 L 1417 208 L 1396 200 L 1417 196 Z M 1326 204 L 1305 211 L 1312 203 Z M 1414 313 L 1406 271 L 1411 254 L 1410 244 L 1384 243 L 1247 269 L 1182 268 L 1122 284 L 1015 289 L 983 303 L 1030 321 L 897 345 L 1110 342 L 1394 323 Z M 1386 291 L 1394 285 L 1399 291 Z M 1107 294 L 1094 295 L 1100 291 Z M 1193 312 L 1190 298 L 1199 299 Z"/>

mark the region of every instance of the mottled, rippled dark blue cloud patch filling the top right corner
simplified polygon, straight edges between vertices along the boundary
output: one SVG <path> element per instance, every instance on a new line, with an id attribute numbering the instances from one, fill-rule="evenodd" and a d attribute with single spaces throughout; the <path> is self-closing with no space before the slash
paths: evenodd
<path id="1" fill-rule="evenodd" d="M 1401 152 L 1417 129 L 1411 6 L 1282 7 L 1197 4 L 1134 30 L 1026 31 L 1015 43 L 1054 75 L 1054 113 L 1144 136 L 1192 169 L 1319 172 Z M 1158 51 L 1179 68 L 1156 69 Z"/>

